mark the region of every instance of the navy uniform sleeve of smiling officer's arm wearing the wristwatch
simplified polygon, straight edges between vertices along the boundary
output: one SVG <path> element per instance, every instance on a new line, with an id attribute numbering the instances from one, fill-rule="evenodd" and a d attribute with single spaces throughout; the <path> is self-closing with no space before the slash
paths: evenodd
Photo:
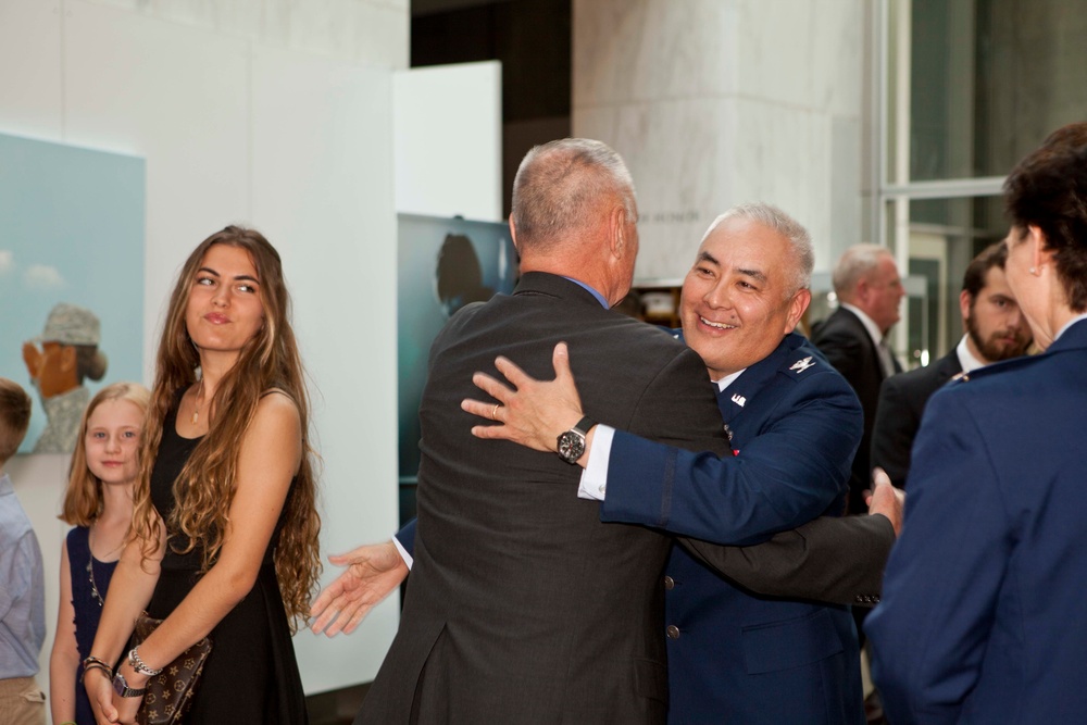
<path id="1" fill-rule="evenodd" d="M 832 371 L 786 385 L 785 395 L 748 403 L 774 412 L 735 458 L 616 430 L 601 518 L 716 543 L 757 543 L 826 513 L 844 493 L 861 438 L 860 403 Z"/>

